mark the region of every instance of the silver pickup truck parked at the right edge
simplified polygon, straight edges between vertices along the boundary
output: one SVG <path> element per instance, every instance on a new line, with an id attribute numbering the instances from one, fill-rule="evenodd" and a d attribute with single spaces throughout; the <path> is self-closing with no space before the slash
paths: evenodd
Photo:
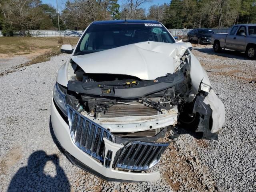
<path id="1" fill-rule="evenodd" d="M 234 25 L 228 34 L 212 34 L 213 49 L 222 48 L 245 52 L 249 59 L 256 59 L 256 24 Z"/>

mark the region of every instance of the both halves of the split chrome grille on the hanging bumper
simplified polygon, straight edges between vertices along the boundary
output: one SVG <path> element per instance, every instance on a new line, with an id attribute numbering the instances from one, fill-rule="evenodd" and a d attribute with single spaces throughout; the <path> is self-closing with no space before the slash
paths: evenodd
<path id="1" fill-rule="evenodd" d="M 115 162 L 114 168 L 124 170 L 147 170 L 155 166 L 169 143 L 140 142 L 130 140 L 119 144 L 118 154 L 112 149 L 106 150 L 106 140 L 115 143 L 115 136 L 92 120 L 67 105 L 68 121 L 73 142 L 78 148 L 96 158 L 105 166 Z M 113 156 L 112 154 L 115 154 Z M 114 159 L 116 158 L 116 159 Z"/>

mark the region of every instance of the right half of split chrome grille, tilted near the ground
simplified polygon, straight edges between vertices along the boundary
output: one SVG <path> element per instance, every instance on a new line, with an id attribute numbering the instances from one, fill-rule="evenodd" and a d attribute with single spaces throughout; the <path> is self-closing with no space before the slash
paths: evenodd
<path id="1" fill-rule="evenodd" d="M 147 170 L 155 166 L 169 143 L 134 141 L 124 146 L 115 163 L 115 168 L 125 170 Z"/>

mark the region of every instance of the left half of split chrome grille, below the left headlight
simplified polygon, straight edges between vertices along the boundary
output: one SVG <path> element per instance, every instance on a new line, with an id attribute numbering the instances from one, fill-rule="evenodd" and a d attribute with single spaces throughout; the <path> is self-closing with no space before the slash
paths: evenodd
<path id="1" fill-rule="evenodd" d="M 102 126 L 78 113 L 70 105 L 67 105 L 67 109 L 73 142 L 87 154 L 104 162 L 105 145 L 103 138 L 114 142 L 113 135 Z"/>

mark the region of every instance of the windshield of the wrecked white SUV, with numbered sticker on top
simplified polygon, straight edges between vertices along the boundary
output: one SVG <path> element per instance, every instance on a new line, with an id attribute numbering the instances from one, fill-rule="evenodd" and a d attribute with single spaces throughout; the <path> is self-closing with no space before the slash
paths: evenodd
<path id="1" fill-rule="evenodd" d="M 92 24 L 79 41 L 74 55 L 145 41 L 176 42 L 161 24 Z"/>

